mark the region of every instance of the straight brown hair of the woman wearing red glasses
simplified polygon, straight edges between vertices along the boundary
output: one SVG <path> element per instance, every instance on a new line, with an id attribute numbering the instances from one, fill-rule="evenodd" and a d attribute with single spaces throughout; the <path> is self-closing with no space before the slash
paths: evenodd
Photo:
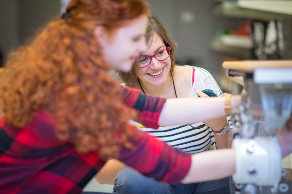
<path id="1" fill-rule="evenodd" d="M 170 52 L 170 58 L 171 58 L 171 68 L 170 68 L 170 75 L 173 76 L 174 74 L 174 68 L 175 68 L 175 55 L 176 55 L 176 49 L 177 44 L 172 40 L 172 38 L 169 36 L 169 33 L 166 29 L 166 27 L 162 24 L 161 20 L 159 20 L 158 16 L 154 12 L 150 12 L 148 25 L 145 33 L 145 39 L 148 47 L 151 46 L 153 34 L 154 32 L 157 32 L 159 38 L 161 38 L 165 44 L 166 47 L 171 46 L 171 52 Z M 123 80 L 126 86 L 135 87 L 135 83 L 138 80 L 138 76 L 136 75 L 136 70 L 139 70 L 139 68 L 134 65 L 130 72 L 124 73 L 122 71 L 118 71 L 117 74 L 119 77 Z"/>

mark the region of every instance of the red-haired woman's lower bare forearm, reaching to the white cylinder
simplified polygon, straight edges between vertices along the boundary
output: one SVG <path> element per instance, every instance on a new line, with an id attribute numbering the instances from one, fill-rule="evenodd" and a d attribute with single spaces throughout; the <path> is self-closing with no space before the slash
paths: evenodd
<path id="1" fill-rule="evenodd" d="M 235 172 L 235 150 L 204 151 L 192 156 L 189 172 L 183 184 L 204 182 L 229 177 Z"/>

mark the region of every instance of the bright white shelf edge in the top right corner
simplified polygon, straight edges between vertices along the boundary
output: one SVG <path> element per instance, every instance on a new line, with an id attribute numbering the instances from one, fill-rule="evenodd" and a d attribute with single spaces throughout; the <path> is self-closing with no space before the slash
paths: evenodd
<path id="1" fill-rule="evenodd" d="M 292 15 L 292 1 L 290 0 L 239 0 L 238 6 L 241 8 Z"/>

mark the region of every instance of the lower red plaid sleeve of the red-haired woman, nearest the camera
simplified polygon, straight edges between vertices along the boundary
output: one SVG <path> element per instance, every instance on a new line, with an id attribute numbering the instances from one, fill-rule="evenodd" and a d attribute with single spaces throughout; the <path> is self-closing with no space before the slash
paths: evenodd
<path id="1" fill-rule="evenodd" d="M 129 126 L 138 137 L 132 140 L 134 149 L 121 148 L 118 160 L 133 167 L 147 177 L 178 184 L 191 165 L 191 155 L 173 148 L 148 133 Z"/>

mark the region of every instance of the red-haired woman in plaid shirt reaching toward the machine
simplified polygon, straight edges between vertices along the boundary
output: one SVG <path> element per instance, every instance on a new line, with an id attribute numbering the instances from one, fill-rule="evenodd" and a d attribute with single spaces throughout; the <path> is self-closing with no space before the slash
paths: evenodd
<path id="1" fill-rule="evenodd" d="M 6 64 L 0 193 L 81 193 L 109 156 L 169 183 L 234 172 L 233 150 L 190 156 L 129 126 L 129 119 L 157 128 L 226 114 L 223 98 L 153 98 L 111 78 L 109 70 L 129 71 L 146 49 L 145 1 L 72 0 L 66 10 Z M 232 107 L 240 101 L 230 100 Z M 206 173 L 202 165 L 222 171 Z"/>

